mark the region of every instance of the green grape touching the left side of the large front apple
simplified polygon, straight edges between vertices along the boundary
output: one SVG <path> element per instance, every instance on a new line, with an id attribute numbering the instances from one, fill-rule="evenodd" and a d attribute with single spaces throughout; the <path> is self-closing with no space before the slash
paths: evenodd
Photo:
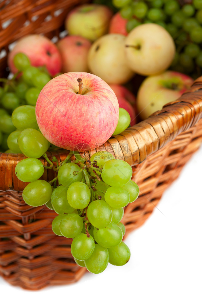
<path id="1" fill-rule="evenodd" d="M 35 107 L 21 105 L 12 112 L 12 123 L 19 130 L 39 129 L 36 121 Z"/>

